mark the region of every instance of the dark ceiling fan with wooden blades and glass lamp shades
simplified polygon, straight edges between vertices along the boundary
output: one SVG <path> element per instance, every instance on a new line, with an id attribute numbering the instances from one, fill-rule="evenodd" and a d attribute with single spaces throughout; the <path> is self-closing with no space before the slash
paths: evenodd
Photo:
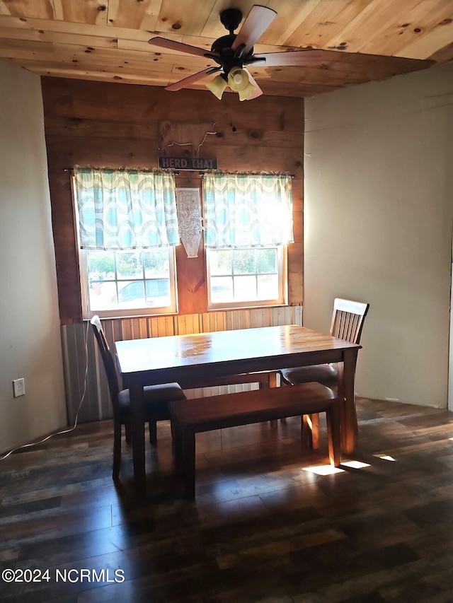
<path id="1" fill-rule="evenodd" d="M 344 50 L 342 52 L 336 52 L 332 50 L 311 48 L 253 54 L 253 45 L 259 40 L 261 35 L 263 35 L 276 16 L 277 13 L 273 11 L 272 8 L 254 4 L 239 32 L 234 33 L 234 30 L 239 27 L 239 24 L 242 21 L 242 12 L 239 8 L 226 8 L 220 13 L 220 21 L 229 33 L 228 35 L 224 35 L 215 40 L 210 51 L 197 46 L 183 44 L 183 42 L 166 40 L 164 37 L 151 37 L 151 40 L 148 40 L 148 42 L 153 46 L 186 52 L 187 54 L 193 54 L 197 57 L 205 57 L 207 59 L 212 59 L 217 63 L 217 65 L 207 67 L 197 74 L 193 74 L 192 76 L 172 83 L 169 86 L 166 86 L 165 89 L 181 90 L 181 88 L 187 88 L 195 81 L 205 78 L 210 74 L 217 73 L 217 76 L 206 84 L 206 87 L 211 90 L 217 98 L 222 98 L 226 86 L 229 86 L 231 90 L 239 94 L 239 100 L 251 100 L 252 98 L 256 98 L 263 94 L 263 90 L 261 90 L 250 71 L 248 71 L 248 65 L 253 65 L 253 68 L 275 66 L 321 66 L 328 60 L 338 60 L 338 57 L 341 57 L 340 60 L 343 60 L 345 54 L 349 57 L 347 59 L 348 62 L 350 62 L 351 59 L 354 59 L 355 62 L 360 62 L 362 59 L 384 59 L 384 57 L 373 54 L 348 53 Z M 385 59 L 388 66 L 390 63 L 394 66 L 398 66 L 399 71 L 397 72 L 399 73 L 423 69 L 431 63 L 428 61 L 405 59 L 401 57 L 385 57 Z"/>

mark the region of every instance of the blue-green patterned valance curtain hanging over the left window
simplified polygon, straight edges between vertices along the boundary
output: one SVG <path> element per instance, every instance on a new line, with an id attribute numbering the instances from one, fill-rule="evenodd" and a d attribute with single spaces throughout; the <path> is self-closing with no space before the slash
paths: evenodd
<path id="1" fill-rule="evenodd" d="M 86 250 L 178 245 L 171 172 L 74 168 L 79 240 Z"/>

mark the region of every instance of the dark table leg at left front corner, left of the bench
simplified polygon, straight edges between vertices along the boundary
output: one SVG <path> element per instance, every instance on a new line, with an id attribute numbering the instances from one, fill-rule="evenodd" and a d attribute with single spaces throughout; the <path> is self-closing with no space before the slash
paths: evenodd
<path id="1" fill-rule="evenodd" d="M 134 487 L 137 498 L 146 496 L 144 464 L 144 400 L 143 386 L 131 379 L 130 415 L 132 426 L 132 457 L 134 462 Z"/>

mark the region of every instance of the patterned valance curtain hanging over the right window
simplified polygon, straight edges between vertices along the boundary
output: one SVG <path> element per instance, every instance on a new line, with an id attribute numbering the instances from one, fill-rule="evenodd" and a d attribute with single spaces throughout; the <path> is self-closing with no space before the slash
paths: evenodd
<path id="1" fill-rule="evenodd" d="M 206 172 L 206 247 L 258 247 L 292 242 L 289 175 Z"/>

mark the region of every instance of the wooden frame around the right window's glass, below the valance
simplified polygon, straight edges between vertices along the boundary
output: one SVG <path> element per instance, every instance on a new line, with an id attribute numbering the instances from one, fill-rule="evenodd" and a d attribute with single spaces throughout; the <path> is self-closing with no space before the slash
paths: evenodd
<path id="1" fill-rule="evenodd" d="M 229 247 L 231 251 L 242 249 L 267 249 L 277 248 L 277 275 L 279 296 L 273 300 L 246 300 L 231 302 L 212 302 L 211 300 L 211 274 L 210 274 L 210 251 L 219 251 L 211 247 L 205 247 L 206 264 L 206 286 L 207 286 L 207 310 L 239 310 L 241 308 L 276 308 L 288 305 L 288 262 L 287 262 L 287 244 L 285 245 L 266 245 L 264 247 Z M 238 275 L 239 276 L 239 275 Z"/>

